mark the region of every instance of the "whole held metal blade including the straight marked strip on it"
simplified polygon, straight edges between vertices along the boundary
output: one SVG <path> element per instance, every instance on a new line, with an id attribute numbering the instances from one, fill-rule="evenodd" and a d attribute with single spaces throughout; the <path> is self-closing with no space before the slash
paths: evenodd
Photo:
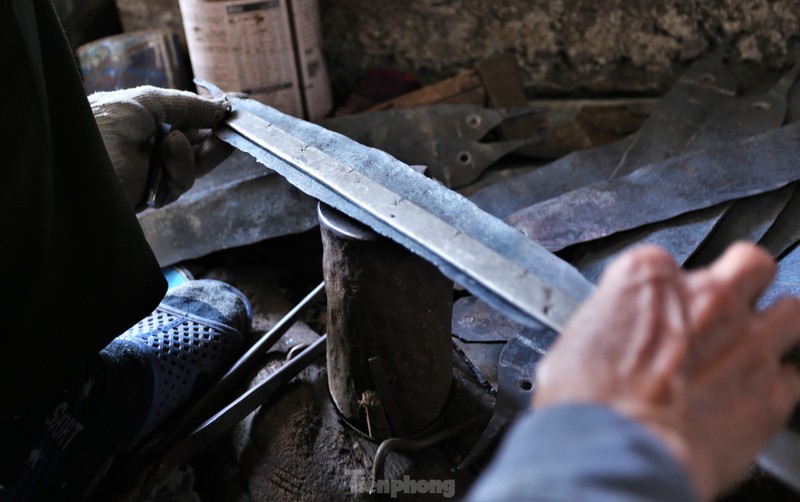
<path id="1" fill-rule="evenodd" d="M 386 153 L 261 103 L 231 101 L 236 111 L 218 131 L 223 140 L 518 322 L 558 328 L 593 290 L 566 262 Z"/>

